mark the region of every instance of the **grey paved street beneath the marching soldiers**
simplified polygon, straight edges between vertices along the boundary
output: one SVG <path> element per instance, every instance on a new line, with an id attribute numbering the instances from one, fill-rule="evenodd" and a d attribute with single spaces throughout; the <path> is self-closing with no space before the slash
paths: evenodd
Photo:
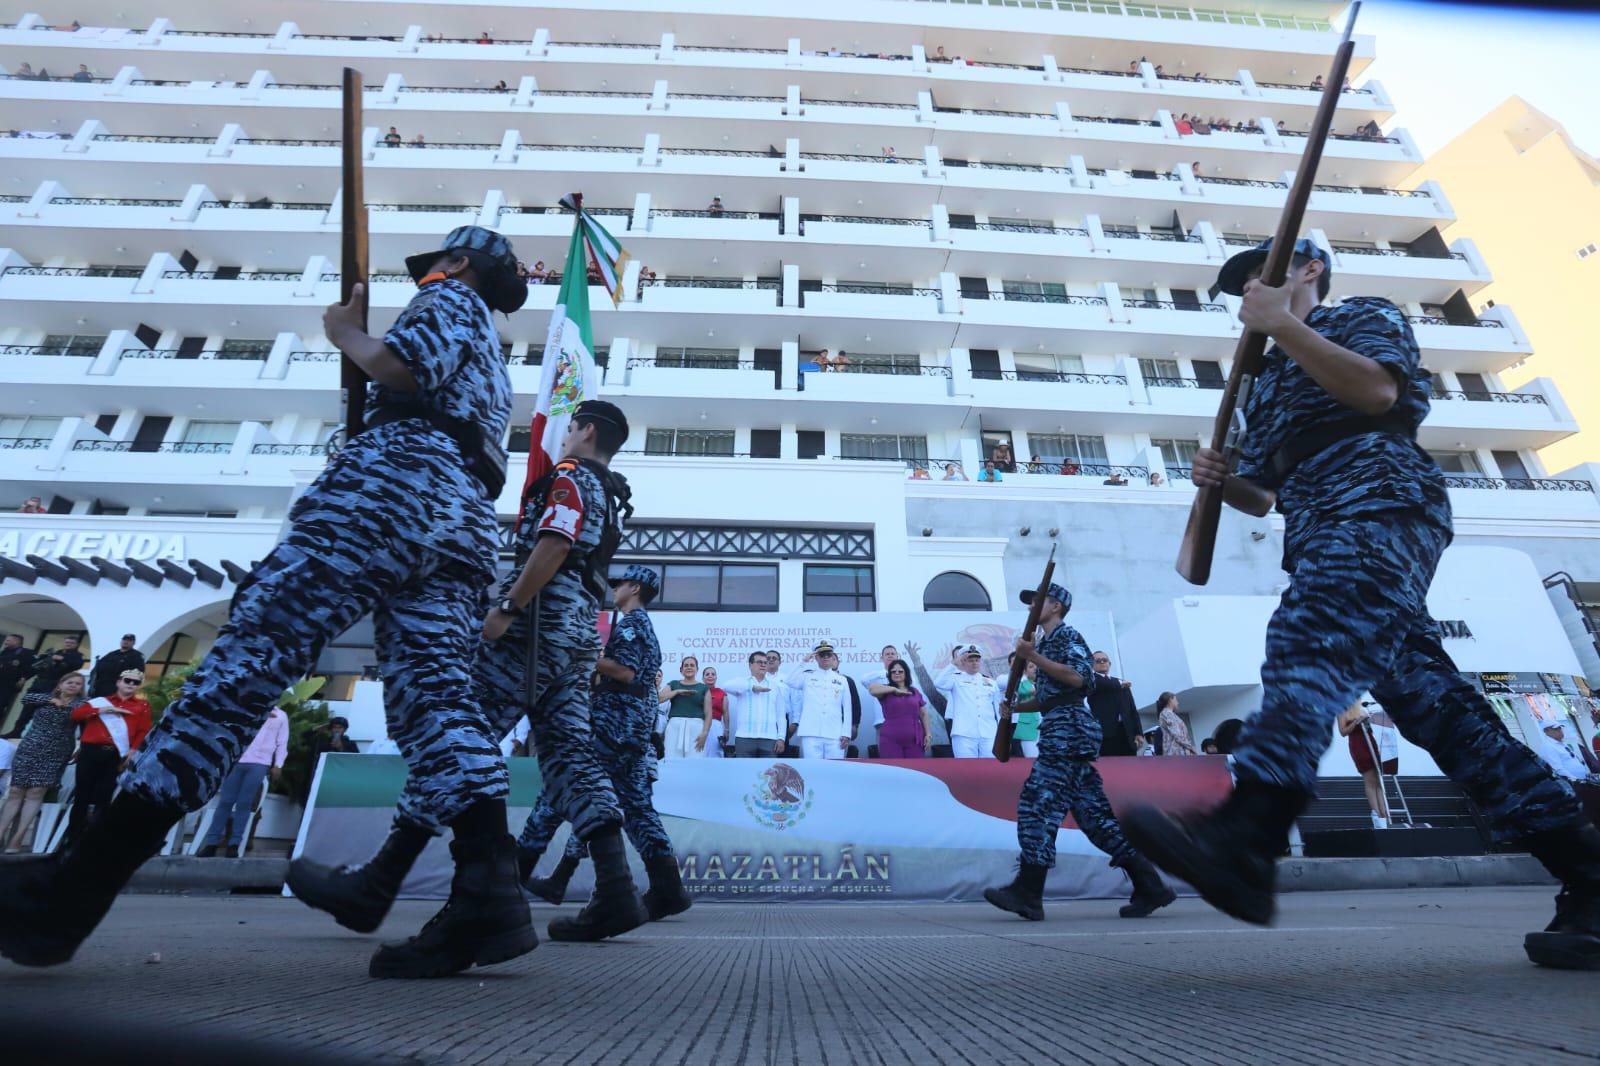
<path id="1" fill-rule="evenodd" d="M 1272 930 L 1190 900 L 1138 924 L 1058 903 L 1042 925 L 982 904 L 701 904 L 400 983 L 365 976 L 374 940 L 293 900 L 126 896 L 67 967 L 0 964 L 0 1004 L 80 1034 L 126 1004 L 174 1037 L 382 1063 L 1592 1063 L 1600 973 L 1522 954 L 1550 900 L 1298 893 Z"/>

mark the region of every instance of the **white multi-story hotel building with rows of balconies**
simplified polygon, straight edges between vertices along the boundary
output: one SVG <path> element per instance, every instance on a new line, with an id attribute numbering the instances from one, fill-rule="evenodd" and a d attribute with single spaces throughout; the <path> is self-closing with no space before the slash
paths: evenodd
<path id="1" fill-rule="evenodd" d="M 1056 543 L 1141 703 L 1182 693 L 1200 736 L 1250 709 L 1282 523 L 1229 515 L 1206 589 L 1173 557 L 1240 335 L 1210 287 L 1277 224 L 1339 5 L 10 8 L 0 504 L 45 512 L 0 520 L 0 627 L 184 661 L 272 544 L 338 418 L 320 314 L 354 66 L 374 328 L 454 226 L 558 266 L 573 190 L 632 253 L 594 328 L 635 427 L 622 555 L 664 567 L 659 610 L 1011 610 Z M 1515 306 L 1474 311 L 1491 264 L 1440 235 L 1406 131 L 1357 134 L 1394 109 L 1373 56 L 1306 230 L 1334 298 L 1394 299 L 1435 373 L 1422 442 L 1458 520 L 1435 610 L 1469 669 L 1600 680 L 1573 603 L 1600 471 L 1541 466 L 1576 424 L 1549 381 L 1501 384 L 1530 354 Z M 523 424 L 554 296 L 501 322 Z M 1000 445 L 1014 471 L 979 482 Z M 371 704 L 362 637 L 334 651 L 333 691 Z"/>

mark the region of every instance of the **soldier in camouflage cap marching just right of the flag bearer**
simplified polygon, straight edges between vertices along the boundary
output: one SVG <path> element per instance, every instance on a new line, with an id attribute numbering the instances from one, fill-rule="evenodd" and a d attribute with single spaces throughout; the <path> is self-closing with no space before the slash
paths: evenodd
<path id="1" fill-rule="evenodd" d="M 611 775 L 618 797 L 622 802 L 622 828 L 634 850 L 645 860 L 650 874 L 650 890 L 645 908 L 650 920 L 658 922 L 670 914 L 690 909 L 691 900 L 683 892 L 678 861 L 672 853 L 672 840 L 661 824 L 651 799 L 656 779 L 656 752 L 650 735 L 656 728 L 656 675 L 661 669 L 661 645 L 645 607 L 656 599 L 659 581 L 648 567 L 629 567 L 621 578 L 611 581 L 619 618 L 611 626 L 605 653 L 595 671 L 594 735 L 600 763 Z M 544 804 L 534 808 L 528 826 L 517 840 L 523 869 L 531 871 L 550 845 L 550 812 Z M 542 815 L 542 816 L 541 816 Z M 584 848 L 576 834 L 568 839 L 566 852 L 549 879 L 531 879 L 528 890 L 542 900 L 560 903 L 566 895 L 566 882 L 578 869 Z"/>

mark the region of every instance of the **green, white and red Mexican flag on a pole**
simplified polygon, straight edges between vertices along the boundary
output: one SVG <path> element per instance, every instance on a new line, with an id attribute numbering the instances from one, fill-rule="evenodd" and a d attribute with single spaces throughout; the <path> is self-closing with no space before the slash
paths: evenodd
<path id="1" fill-rule="evenodd" d="M 613 304 L 622 299 L 622 271 L 627 266 L 622 245 L 582 210 L 581 194 L 565 197 L 562 205 L 576 211 L 578 218 L 573 222 L 573 240 L 566 246 L 555 311 L 550 312 L 550 333 L 544 341 L 523 499 L 533 483 L 562 459 L 562 439 L 573 411 L 600 394 L 594 333 L 589 328 L 589 264 L 600 275 L 598 283 L 611 293 Z M 520 522 L 520 509 L 517 517 Z"/>

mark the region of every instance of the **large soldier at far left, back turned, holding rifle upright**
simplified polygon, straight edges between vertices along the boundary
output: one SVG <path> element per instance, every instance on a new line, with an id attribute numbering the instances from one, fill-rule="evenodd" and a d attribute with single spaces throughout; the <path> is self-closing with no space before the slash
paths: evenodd
<path id="1" fill-rule="evenodd" d="M 498 549 L 499 440 L 512 389 L 493 312 L 526 299 L 499 234 L 464 226 L 406 261 L 419 291 L 368 336 L 360 298 L 323 330 L 374 381 L 370 429 L 328 463 L 290 530 L 234 594 L 227 626 L 168 707 L 104 816 L 64 855 L 0 872 L 0 954 L 64 962 L 187 810 L 218 791 L 274 701 L 326 642 L 371 613 L 389 735 L 410 789 L 454 832 L 456 876 L 422 933 L 373 976 L 438 976 L 538 944 L 506 832 L 506 765 L 472 698 Z"/>

